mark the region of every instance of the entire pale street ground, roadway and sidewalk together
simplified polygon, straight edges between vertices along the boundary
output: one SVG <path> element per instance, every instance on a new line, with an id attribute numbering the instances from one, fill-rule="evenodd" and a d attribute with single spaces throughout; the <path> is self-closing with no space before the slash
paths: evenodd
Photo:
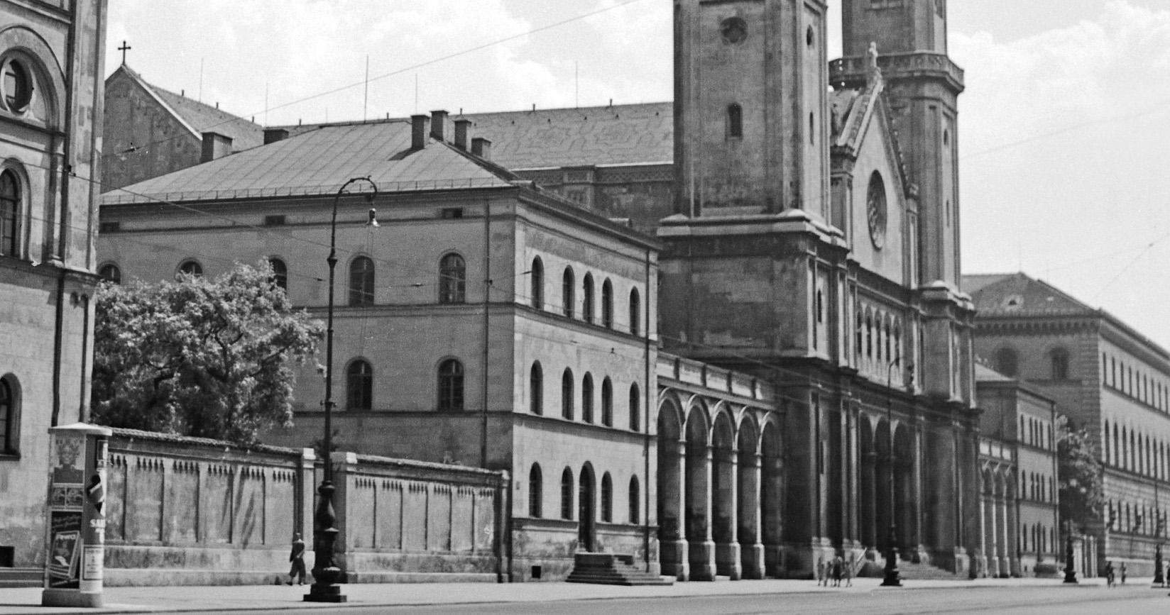
<path id="1" fill-rule="evenodd" d="M 1131 580 L 1133 581 L 1133 580 Z M 1131 582 L 1108 589 L 1092 579 L 1062 585 L 1052 579 L 907 581 L 879 587 L 856 579 L 852 588 L 824 588 L 814 581 L 716 581 L 669 587 L 618 587 L 565 582 L 534 583 L 359 583 L 344 587 L 345 604 L 302 601 L 307 588 L 111 587 L 105 608 L 55 609 L 40 606 L 39 588 L 0 590 L 0 615 L 62 613 L 282 613 L 372 615 L 381 613 L 592 614 L 1107 614 L 1170 615 L 1170 588 Z"/>

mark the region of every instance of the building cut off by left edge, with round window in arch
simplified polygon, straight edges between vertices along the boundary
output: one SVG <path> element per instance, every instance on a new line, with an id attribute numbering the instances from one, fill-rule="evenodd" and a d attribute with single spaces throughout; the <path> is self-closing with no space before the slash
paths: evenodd
<path id="1" fill-rule="evenodd" d="M 89 403 L 105 7 L 0 1 L 0 580 L 43 564 L 48 428 Z"/>

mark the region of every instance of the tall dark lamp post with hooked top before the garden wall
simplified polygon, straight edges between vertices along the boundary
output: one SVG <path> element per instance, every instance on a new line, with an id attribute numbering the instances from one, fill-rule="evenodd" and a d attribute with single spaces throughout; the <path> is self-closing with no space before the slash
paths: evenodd
<path id="1" fill-rule="evenodd" d="M 325 325 L 325 475 L 317 488 L 321 496 L 317 502 L 317 511 L 312 517 L 312 552 L 315 555 L 312 566 L 312 585 L 309 593 L 304 595 L 305 602 L 345 602 L 345 594 L 337 583 L 344 578 L 345 571 L 333 560 L 333 545 L 337 541 L 338 530 L 336 527 L 337 516 L 333 513 L 333 270 L 337 268 L 337 206 L 342 200 L 345 188 L 356 181 L 365 181 L 373 188 L 372 193 L 366 193 L 367 202 L 373 202 L 378 195 L 378 185 L 369 177 L 352 178 L 333 196 L 333 215 L 329 222 L 329 308 L 326 309 Z M 378 226 L 374 217 L 374 209 L 370 209 L 367 224 Z"/>

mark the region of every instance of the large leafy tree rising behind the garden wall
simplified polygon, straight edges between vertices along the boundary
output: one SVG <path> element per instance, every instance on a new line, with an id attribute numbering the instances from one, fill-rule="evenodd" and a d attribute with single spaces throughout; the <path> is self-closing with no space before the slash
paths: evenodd
<path id="1" fill-rule="evenodd" d="M 291 422 L 294 367 L 323 337 L 267 262 L 214 279 L 103 283 L 95 310 L 95 422 L 243 444 Z"/>

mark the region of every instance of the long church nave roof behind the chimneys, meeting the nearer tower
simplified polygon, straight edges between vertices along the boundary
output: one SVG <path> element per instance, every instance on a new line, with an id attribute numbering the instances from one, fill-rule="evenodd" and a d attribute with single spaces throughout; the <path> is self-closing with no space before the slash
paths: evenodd
<path id="1" fill-rule="evenodd" d="M 449 117 L 456 119 L 472 120 L 472 137 L 491 140 L 491 160 L 515 171 L 674 161 L 674 106 L 668 102 Z M 322 125 L 328 124 L 280 127 L 300 134 Z"/>

